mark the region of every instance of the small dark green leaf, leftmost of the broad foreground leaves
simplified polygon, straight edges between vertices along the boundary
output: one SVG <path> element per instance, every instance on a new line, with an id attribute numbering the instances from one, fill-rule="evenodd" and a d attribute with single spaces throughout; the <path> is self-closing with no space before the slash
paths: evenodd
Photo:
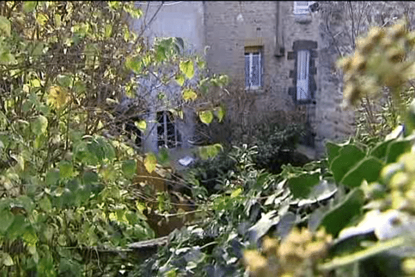
<path id="1" fill-rule="evenodd" d="M 288 187 L 294 198 L 306 198 L 311 188 L 320 182 L 320 172 L 304 172 L 287 180 Z"/>

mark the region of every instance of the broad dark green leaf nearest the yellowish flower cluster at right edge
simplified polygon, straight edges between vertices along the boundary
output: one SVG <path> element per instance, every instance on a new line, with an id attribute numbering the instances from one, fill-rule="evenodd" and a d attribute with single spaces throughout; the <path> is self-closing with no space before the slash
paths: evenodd
<path id="1" fill-rule="evenodd" d="M 382 167 L 382 161 L 374 157 L 368 157 L 351 168 L 351 170 L 344 175 L 340 183 L 344 184 L 344 186 L 349 186 L 349 188 L 360 186 L 364 179 L 368 183 L 371 183 L 378 179 Z"/>

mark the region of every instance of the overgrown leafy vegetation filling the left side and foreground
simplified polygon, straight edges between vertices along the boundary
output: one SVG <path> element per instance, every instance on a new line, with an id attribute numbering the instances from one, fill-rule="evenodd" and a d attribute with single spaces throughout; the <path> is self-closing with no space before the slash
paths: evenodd
<path id="1" fill-rule="evenodd" d="M 113 123 L 107 102 L 133 96 L 131 70 L 167 64 L 190 103 L 203 94 L 185 82 L 196 58 L 183 60 L 173 39 L 142 44 L 128 29 L 127 15 L 141 14 L 129 2 L 2 2 L 0 12 L 2 276 L 414 275 L 415 103 L 404 84 L 415 34 L 405 22 L 371 29 L 342 61 L 344 103 L 389 87 L 396 109 L 382 124 L 399 132 L 327 143 L 326 159 L 274 173 L 300 128 L 270 128 L 214 159 L 221 145 L 203 146 L 207 161 L 175 180 L 195 202 L 176 208 L 187 225 L 145 259 L 129 243 L 154 238 L 145 214 L 168 220 L 174 203 L 135 184 L 136 152 L 102 135 Z M 223 118 L 216 104 L 199 107 L 201 122 Z M 162 156 L 140 161 L 151 173 Z"/>

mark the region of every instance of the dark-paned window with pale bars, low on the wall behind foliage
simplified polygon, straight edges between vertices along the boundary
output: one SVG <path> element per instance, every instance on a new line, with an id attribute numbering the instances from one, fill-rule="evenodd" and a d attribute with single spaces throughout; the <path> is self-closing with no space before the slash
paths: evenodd
<path id="1" fill-rule="evenodd" d="M 169 111 L 157 113 L 157 145 L 167 148 L 175 148 L 181 142 L 181 136 L 174 124 L 174 118 Z"/>

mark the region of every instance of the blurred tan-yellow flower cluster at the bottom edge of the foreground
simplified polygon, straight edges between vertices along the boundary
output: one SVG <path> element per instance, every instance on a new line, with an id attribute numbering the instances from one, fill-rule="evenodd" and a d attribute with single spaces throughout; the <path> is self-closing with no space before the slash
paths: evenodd
<path id="1" fill-rule="evenodd" d="M 300 277 L 307 270 L 315 271 L 317 260 L 326 256 L 331 240 L 324 229 L 312 234 L 308 229 L 294 228 L 281 244 L 275 238 L 264 238 L 262 253 L 246 250 L 243 260 L 250 276 Z"/>

